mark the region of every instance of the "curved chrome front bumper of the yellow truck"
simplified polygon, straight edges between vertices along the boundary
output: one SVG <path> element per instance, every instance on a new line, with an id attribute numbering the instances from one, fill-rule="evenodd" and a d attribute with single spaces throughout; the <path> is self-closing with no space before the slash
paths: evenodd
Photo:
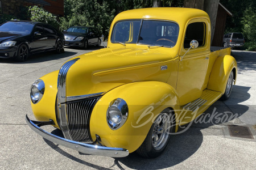
<path id="1" fill-rule="evenodd" d="M 59 144 L 61 146 L 72 148 L 73 150 L 82 152 L 84 154 L 109 156 L 113 158 L 121 158 L 129 155 L 129 151 L 126 150 L 125 148 L 90 145 L 90 144 L 71 141 L 65 138 L 58 137 L 56 135 L 48 133 L 47 131 L 39 127 L 39 126 L 44 126 L 49 124 L 45 124 L 45 122 L 32 121 L 28 118 L 27 115 L 26 115 L 26 121 L 28 126 L 30 126 L 32 130 L 34 130 L 37 134 L 41 135 L 43 138 L 53 143 Z"/>

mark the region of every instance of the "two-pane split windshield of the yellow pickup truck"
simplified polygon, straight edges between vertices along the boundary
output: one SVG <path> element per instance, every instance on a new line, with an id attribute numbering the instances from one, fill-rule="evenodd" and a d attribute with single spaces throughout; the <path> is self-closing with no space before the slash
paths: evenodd
<path id="1" fill-rule="evenodd" d="M 111 42 L 172 47 L 175 46 L 178 35 L 179 26 L 174 22 L 122 20 L 114 25 Z"/>

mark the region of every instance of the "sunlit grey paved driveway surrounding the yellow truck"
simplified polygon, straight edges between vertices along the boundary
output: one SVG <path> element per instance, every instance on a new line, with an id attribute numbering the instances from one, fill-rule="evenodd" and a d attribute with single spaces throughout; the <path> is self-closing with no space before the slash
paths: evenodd
<path id="1" fill-rule="evenodd" d="M 238 76 L 231 98 L 217 101 L 205 111 L 205 115 L 217 112 L 228 118 L 193 123 L 184 133 L 174 135 L 164 154 L 156 159 L 144 159 L 135 153 L 118 159 L 80 155 L 34 133 L 24 120 L 26 114 L 34 118 L 31 84 L 59 70 L 69 58 L 96 49 L 65 48 L 63 54 L 35 54 L 22 63 L 0 59 L 0 169 L 255 169 L 255 52 L 233 50 Z M 232 124 L 249 127 L 254 139 L 231 137 L 228 125 Z"/>

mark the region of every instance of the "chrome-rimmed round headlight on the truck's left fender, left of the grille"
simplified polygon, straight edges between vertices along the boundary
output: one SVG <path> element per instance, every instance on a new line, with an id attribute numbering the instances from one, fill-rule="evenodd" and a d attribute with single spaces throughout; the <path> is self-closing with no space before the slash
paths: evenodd
<path id="1" fill-rule="evenodd" d="M 45 86 L 43 80 L 36 80 L 30 88 L 30 98 L 32 103 L 36 104 L 42 99 L 44 90 Z"/>

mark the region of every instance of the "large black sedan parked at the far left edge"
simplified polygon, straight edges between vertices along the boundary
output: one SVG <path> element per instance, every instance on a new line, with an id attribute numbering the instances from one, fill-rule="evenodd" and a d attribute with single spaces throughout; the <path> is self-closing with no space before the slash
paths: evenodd
<path id="1" fill-rule="evenodd" d="M 46 23 L 10 21 L 0 25 L 0 58 L 25 61 L 29 53 L 64 52 L 63 33 Z"/>

